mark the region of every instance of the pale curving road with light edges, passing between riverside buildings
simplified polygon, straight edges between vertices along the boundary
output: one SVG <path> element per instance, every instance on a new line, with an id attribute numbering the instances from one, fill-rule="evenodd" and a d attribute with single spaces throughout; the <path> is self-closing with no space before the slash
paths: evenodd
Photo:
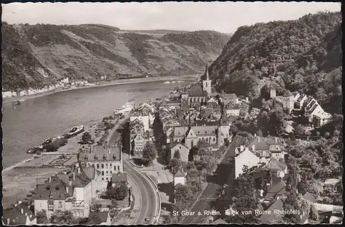
<path id="1" fill-rule="evenodd" d="M 119 137 L 121 136 L 121 129 L 123 129 L 124 124 L 126 124 L 126 121 L 128 120 L 129 117 L 121 119 L 117 126 L 113 128 L 108 137 L 108 144 L 114 144 L 115 141 L 118 141 Z M 141 208 L 136 214 L 135 219 L 130 220 L 129 222 L 130 224 L 153 224 L 158 206 L 155 188 L 150 180 L 146 176 L 142 175 L 139 171 L 135 170 L 135 168 L 130 166 L 126 159 L 123 159 L 123 161 L 124 170 L 127 172 L 128 177 L 132 178 L 132 180 L 136 183 L 136 185 L 132 186 L 133 195 L 135 199 L 140 199 L 141 204 Z M 136 190 L 134 187 L 137 187 L 135 188 Z M 135 193 L 135 191 L 138 193 Z M 149 218 L 148 221 L 145 221 L 146 217 Z"/>

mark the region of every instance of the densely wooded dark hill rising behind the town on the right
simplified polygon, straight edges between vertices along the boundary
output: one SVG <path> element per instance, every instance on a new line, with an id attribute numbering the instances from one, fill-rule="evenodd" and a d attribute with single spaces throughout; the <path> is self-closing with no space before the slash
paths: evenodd
<path id="1" fill-rule="evenodd" d="M 209 67 L 217 90 L 251 99 L 275 83 L 277 95 L 313 95 L 326 111 L 342 112 L 342 15 L 308 14 L 298 20 L 242 26 Z M 337 103 L 337 104 L 335 104 Z"/>

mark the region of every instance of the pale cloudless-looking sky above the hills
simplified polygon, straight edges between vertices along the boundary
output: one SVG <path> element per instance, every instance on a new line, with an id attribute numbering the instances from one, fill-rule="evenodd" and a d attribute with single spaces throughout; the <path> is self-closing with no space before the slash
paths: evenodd
<path id="1" fill-rule="evenodd" d="M 152 3 L 8 3 L 8 23 L 101 23 L 121 30 L 216 30 L 233 33 L 239 26 L 299 19 L 319 11 L 336 12 L 330 2 L 152 2 Z"/>

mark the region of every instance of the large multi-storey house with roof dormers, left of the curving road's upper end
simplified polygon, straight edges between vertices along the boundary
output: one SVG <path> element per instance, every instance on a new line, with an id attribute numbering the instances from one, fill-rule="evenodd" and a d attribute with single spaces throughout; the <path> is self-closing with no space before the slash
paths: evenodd
<path id="1" fill-rule="evenodd" d="M 110 181 L 112 172 L 124 170 L 121 144 L 94 146 L 90 152 L 79 152 L 79 159 L 101 172 L 103 187 Z"/>

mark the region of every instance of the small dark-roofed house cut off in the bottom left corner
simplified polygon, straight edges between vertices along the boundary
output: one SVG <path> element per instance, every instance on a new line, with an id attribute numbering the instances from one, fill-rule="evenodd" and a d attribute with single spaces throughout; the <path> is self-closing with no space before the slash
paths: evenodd
<path id="1" fill-rule="evenodd" d="M 37 224 L 37 217 L 32 213 L 29 206 L 17 201 L 14 208 L 3 209 L 2 223 L 6 226 L 31 226 Z"/>

